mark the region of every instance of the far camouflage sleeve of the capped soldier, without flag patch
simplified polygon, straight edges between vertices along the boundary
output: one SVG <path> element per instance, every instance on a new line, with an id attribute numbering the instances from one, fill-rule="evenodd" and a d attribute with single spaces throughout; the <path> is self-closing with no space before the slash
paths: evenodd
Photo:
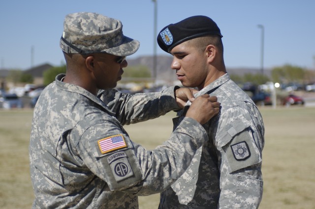
<path id="1" fill-rule="evenodd" d="M 129 125 L 157 118 L 171 110 L 179 109 L 174 96 L 174 88 L 160 92 L 123 94 L 115 89 L 103 91 L 100 99 L 115 113 L 122 125 Z"/>

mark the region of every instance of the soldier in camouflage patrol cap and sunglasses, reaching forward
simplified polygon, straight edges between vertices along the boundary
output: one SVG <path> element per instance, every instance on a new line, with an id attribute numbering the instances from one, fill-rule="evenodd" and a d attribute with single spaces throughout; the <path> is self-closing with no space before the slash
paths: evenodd
<path id="1" fill-rule="evenodd" d="M 44 89 L 33 113 L 32 208 L 138 208 L 136 195 L 173 183 L 208 139 L 201 124 L 219 112 L 216 97 L 193 99 L 190 89 L 174 86 L 136 95 L 113 89 L 126 56 L 139 48 L 122 27 L 97 13 L 64 19 L 66 74 Z M 147 151 L 130 140 L 123 125 L 178 110 L 188 98 L 187 117 L 162 146 Z"/>

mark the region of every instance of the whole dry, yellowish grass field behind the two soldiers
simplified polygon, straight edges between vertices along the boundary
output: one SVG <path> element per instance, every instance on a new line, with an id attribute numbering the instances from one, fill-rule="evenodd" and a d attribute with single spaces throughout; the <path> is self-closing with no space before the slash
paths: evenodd
<path id="1" fill-rule="evenodd" d="M 264 194 L 260 209 L 315 209 L 315 107 L 261 108 L 265 123 Z M 167 140 L 168 113 L 126 126 L 147 149 Z M 0 208 L 30 209 L 33 201 L 28 145 L 32 110 L 0 111 Z M 158 194 L 139 198 L 140 209 L 156 209 Z"/>

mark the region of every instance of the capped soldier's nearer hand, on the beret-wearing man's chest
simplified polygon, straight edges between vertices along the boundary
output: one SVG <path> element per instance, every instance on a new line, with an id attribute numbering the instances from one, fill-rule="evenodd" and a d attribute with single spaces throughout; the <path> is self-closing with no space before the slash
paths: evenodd
<path id="1" fill-rule="evenodd" d="M 207 123 L 213 116 L 217 115 L 220 110 L 218 98 L 209 94 L 197 97 L 190 105 L 186 117 L 198 121 L 201 125 Z"/>

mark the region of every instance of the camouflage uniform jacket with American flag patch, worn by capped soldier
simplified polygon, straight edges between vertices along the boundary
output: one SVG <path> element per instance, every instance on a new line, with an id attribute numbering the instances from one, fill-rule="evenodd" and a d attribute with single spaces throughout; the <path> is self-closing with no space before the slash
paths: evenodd
<path id="1" fill-rule="evenodd" d="M 208 140 L 205 129 L 191 118 L 155 150 L 129 139 L 124 124 L 178 108 L 174 87 L 138 95 L 102 91 L 107 106 L 85 89 L 62 82 L 63 77 L 58 75 L 45 88 L 34 108 L 32 208 L 136 209 L 137 195 L 168 187 Z"/>

